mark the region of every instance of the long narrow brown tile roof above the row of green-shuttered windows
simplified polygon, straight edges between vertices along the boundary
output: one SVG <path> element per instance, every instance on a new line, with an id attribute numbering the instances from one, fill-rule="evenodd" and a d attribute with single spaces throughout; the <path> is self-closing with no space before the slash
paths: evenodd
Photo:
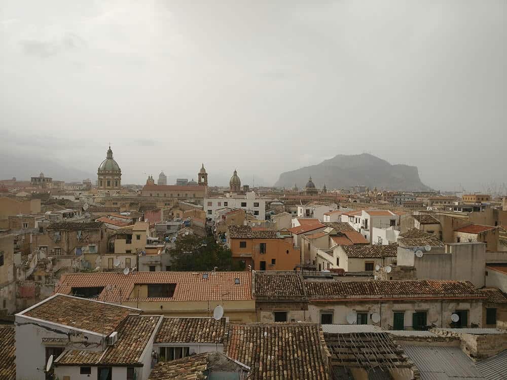
<path id="1" fill-rule="evenodd" d="M 399 281 L 305 281 L 311 298 L 346 298 L 392 296 L 418 297 L 483 297 L 484 295 L 468 281 L 451 280 L 399 280 Z"/>

